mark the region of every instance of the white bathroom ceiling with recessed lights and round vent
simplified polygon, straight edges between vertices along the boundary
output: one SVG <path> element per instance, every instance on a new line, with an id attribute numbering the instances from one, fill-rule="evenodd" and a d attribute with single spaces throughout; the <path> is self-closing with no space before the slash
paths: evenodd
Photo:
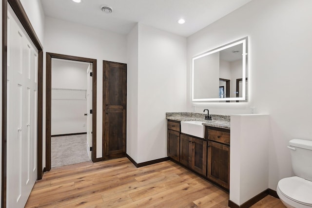
<path id="1" fill-rule="evenodd" d="M 251 0 L 41 0 L 46 16 L 128 34 L 137 22 L 188 37 Z M 113 13 L 101 11 L 101 5 Z M 178 24 L 179 18 L 186 19 Z"/>

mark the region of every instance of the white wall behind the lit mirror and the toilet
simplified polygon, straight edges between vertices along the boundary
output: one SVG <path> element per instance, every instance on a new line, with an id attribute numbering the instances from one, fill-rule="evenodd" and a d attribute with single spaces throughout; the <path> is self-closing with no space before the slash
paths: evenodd
<path id="1" fill-rule="evenodd" d="M 253 0 L 190 36 L 187 55 L 187 109 L 213 114 L 270 114 L 269 184 L 292 176 L 292 138 L 312 140 L 312 1 Z M 192 57 L 233 40 L 249 37 L 249 102 L 192 103 Z M 231 170 L 233 171 L 233 170 Z"/>

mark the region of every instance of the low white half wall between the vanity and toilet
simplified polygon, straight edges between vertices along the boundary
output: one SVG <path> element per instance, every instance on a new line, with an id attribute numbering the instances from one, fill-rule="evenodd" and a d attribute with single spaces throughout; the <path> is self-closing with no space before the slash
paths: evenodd
<path id="1" fill-rule="evenodd" d="M 230 200 L 237 205 L 268 189 L 269 118 L 231 115 Z"/>

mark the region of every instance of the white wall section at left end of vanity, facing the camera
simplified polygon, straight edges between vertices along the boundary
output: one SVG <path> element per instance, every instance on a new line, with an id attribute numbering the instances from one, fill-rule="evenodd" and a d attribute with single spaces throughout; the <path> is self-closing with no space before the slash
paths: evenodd
<path id="1" fill-rule="evenodd" d="M 186 110 L 185 72 L 186 38 L 139 23 L 137 163 L 167 157 L 166 112 Z"/>

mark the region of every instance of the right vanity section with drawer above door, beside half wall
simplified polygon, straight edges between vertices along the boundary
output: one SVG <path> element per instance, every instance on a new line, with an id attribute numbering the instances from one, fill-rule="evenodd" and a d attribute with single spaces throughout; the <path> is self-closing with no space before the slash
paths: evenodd
<path id="1" fill-rule="evenodd" d="M 230 189 L 230 130 L 220 130 L 208 128 L 207 177 Z"/>

